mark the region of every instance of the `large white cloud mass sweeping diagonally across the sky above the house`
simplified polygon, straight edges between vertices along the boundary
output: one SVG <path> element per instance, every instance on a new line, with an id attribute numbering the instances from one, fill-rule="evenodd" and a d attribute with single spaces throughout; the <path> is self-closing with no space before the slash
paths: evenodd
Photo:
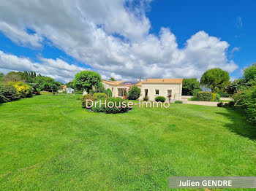
<path id="1" fill-rule="evenodd" d="M 0 23 L 13 29 L 0 30 L 8 32 L 13 42 L 34 47 L 43 45 L 46 38 L 105 78 L 200 77 L 214 67 L 230 72 L 238 68 L 227 58 L 229 44 L 204 31 L 192 35 L 182 49 L 169 28 L 161 28 L 158 35 L 149 34 L 148 1 L 140 2 L 134 6 L 131 0 L 1 1 Z M 124 6 L 127 3 L 129 7 Z M 26 28 L 35 34 L 27 34 Z M 70 65 L 64 61 L 41 61 L 62 69 L 63 78 L 70 74 Z M 58 75 L 53 70 L 48 74 Z"/>

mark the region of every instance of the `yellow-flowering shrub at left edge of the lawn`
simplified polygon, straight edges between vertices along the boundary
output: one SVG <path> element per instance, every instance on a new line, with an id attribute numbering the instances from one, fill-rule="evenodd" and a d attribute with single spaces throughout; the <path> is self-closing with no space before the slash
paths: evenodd
<path id="1" fill-rule="evenodd" d="M 33 88 L 24 82 L 10 82 L 9 84 L 16 88 L 20 98 L 29 98 L 33 95 Z"/>

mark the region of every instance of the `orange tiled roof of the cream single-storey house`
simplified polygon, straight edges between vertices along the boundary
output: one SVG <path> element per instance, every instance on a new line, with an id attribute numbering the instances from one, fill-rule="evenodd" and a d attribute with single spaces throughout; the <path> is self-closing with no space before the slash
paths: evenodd
<path id="1" fill-rule="evenodd" d="M 103 80 L 108 85 L 125 85 L 126 83 L 130 83 L 131 85 L 141 86 L 142 84 L 181 84 L 182 78 L 176 79 L 146 79 L 141 82 L 133 82 L 133 81 L 111 81 L 111 80 Z"/>

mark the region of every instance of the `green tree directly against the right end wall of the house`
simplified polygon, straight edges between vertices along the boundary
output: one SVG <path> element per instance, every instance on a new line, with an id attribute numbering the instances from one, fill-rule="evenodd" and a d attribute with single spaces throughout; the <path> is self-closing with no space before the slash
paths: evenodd
<path id="1" fill-rule="evenodd" d="M 194 95 L 201 91 L 200 82 L 196 78 L 184 78 L 182 82 L 182 95 Z"/>

